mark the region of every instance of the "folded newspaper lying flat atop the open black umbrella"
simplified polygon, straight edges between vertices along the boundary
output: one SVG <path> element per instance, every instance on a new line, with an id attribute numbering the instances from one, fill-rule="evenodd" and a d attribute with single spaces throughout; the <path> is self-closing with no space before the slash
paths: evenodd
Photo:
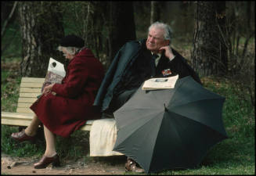
<path id="1" fill-rule="evenodd" d="M 157 77 L 146 80 L 142 85 L 142 90 L 157 90 L 175 88 L 178 74 L 173 77 Z"/>

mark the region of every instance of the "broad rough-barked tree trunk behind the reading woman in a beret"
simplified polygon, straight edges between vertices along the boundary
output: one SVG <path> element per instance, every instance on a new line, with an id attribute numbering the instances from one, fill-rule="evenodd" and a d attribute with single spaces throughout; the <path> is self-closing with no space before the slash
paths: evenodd
<path id="1" fill-rule="evenodd" d="M 22 38 L 20 73 L 23 77 L 45 77 L 49 58 L 63 58 L 56 50 L 64 36 L 59 3 L 19 2 L 19 10 Z"/>

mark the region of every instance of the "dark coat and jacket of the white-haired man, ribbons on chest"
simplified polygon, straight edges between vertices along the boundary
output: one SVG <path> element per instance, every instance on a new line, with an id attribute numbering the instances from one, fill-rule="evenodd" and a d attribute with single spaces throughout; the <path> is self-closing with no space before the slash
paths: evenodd
<path id="1" fill-rule="evenodd" d="M 134 77 L 138 77 L 136 80 L 137 84 L 134 85 L 134 88 L 139 88 L 140 84 L 150 77 L 170 77 L 176 74 L 178 74 L 178 78 L 191 76 L 195 81 L 202 84 L 200 77 L 189 66 L 186 59 L 173 48 L 172 52 L 175 55 L 175 59 L 170 61 L 162 54 L 157 67 L 153 65 L 152 68 L 152 64 L 150 66 L 150 63 L 152 63 L 153 58 L 151 52 L 146 48 L 145 39 L 141 41 L 129 41 L 124 44 L 117 52 L 110 68 L 107 70 L 93 105 L 98 106 L 101 112 L 107 110 L 114 95 L 117 92 L 121 92 L 121 90 L 117 89 L 121 87 L 127 88 L 127 85 L 122 85 L 127 82 L 133 84 L 132 80 L 136 80 Z M 142 60 L 142 62 L 139 63 L 138 60 Z M 141 67 L 140 74 L 143 74 L 143 78 L 140 80 L 139 77 L 141 75 L 139 73 L 132 73 L 133 71 L 139 70 L 134 69 L 136 63 L 139 63 L 137 67 Z"/>

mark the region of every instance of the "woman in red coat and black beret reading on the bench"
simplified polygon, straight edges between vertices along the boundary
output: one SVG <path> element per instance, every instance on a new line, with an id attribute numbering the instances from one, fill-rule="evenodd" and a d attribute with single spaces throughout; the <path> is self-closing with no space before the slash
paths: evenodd
<path id="1" fill-rule="evenodd" d="M 12 138 L 19 142 L 34 140 L 38 125 L 44 125 L 45 154 L 34 164 L 35 169 L 45 168 L 50 163 L 59 165 L 56 135 L 67 138 L 86 120 L 99 117 L 92 103 L 103 80 L 103 65 L 90 49 L 84 47 L 84 43 L 75 35 L 61 40 L 59 51 L 69 60 L 66 76 L 61 84 L 45 86 L 43 95 L 31 106 L 36 114 L 31 124 L 25 130 L 12 134 Z"/>

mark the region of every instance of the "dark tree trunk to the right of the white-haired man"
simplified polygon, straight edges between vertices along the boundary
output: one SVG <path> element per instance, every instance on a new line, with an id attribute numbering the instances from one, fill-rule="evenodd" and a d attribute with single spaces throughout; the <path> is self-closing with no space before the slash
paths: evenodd
<path id="1" fill-rule="evenodd" d="M 197 2 L 192 66 L 200 76 L 227 71 L 225 2 Z"/>

